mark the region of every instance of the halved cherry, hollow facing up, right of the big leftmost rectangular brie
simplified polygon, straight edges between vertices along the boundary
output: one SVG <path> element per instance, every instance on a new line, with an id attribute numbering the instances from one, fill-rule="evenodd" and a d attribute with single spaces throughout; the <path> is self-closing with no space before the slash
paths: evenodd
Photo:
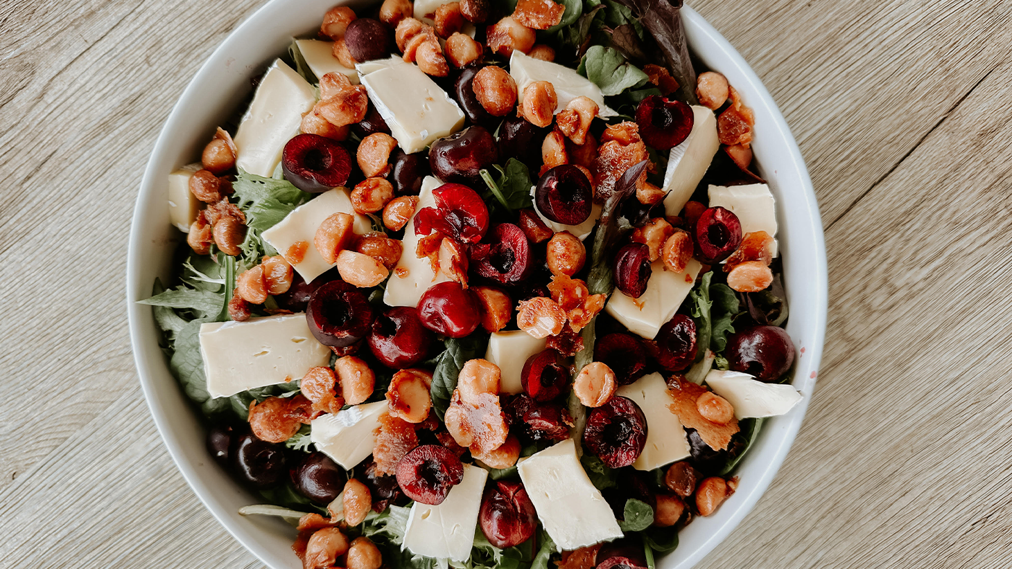
<path id="1" fill-rule="evenodd" d="M 344 348 L 358 342 L 372 325 L 372 306 L 359 289 L 330 281 L 310 297 L 306 320 L 310 331 L 324 346 Z"/>

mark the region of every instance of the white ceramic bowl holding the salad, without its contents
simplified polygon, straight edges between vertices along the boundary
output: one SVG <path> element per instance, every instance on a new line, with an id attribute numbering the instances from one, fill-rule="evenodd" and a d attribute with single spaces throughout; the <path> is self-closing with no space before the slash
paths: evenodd
<path id="1" fill-rule="evenodd" d="M 255 498 L 239 487 L 204 450 L 196 411 L 169 372 L 158 347 L 159 330 L 149 306 L 155 277 L 172 272 L 175 247 L 183 235 L 168 219 L 166 176 L 199 156 L 215 127 L 231 115 L 249 91 L 249 78 L 284 53 L 292 35 L 312 32 L 335 0 L 272 0 L 233 31 L 200 68 L 169 115 L 145 171 L 131 228 L 126 300 L 131 341 L 141 385 L 162 439 L 183 477 L 223 526 L 273 569 L 300 569 L 291 553 L 294 531 L 263 516 L 237 510 Z M 352 8 L 367 0 L 348 2 Z M 742 57 L 701 16 L 683 9 L 688 40 L 699 60 L 724 73 L 755 111 L 753 149 L 761 174 L 777 198 L 780 251 L 790 305 L 787 333 L 800 353 L 793 385 L 804 395 L 786 415 L 766 421 L 742 461 L 738 491 L 709 517 L 681 532 L 681 544 L 659 560 L 664 569 L 687 569 L 738 525 L 765 491 L 802 423 L 816 384 L 826 326 L 827 272 L 822 221 L 805 163 L 776 104 Z"/>

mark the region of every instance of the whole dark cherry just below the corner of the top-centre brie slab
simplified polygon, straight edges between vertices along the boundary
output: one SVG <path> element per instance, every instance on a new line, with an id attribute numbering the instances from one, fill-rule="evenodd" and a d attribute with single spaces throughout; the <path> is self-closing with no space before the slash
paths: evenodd
<path id="1" fill-rule="evenodd" d="M 498 159 L 496 139 L 477 125 L 439 138 L 429 147 L 432 174 L 444 182 L 483 184 L 480 172 Z"/>

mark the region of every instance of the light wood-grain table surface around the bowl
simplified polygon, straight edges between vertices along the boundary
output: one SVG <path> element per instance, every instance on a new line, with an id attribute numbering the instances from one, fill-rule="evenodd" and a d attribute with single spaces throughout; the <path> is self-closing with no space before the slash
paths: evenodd
<path id="1" fill-rule="evenodd" d="M 158 131 L 261 1 L 3 1 L 0 567 L 261 567 L 169 459 L 123 301 Z M 783 110 L 830 268 L 805 424 L 699 567 L 1012 566 L 1012 3 L 690 4 Z"/>

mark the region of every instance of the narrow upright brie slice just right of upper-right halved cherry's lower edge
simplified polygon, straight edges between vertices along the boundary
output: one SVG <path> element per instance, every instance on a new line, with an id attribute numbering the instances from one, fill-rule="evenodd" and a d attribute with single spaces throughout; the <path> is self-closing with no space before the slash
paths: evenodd
<path id="1" fill-rule="evenodd" d="M 668 169 L 664 172 L 664 211 L 668 215 L 681 213 L 685 203 L 692 197 L 703 174 L 713 161 L 713 155 L 721 150 L 716 137 L 716 116 L 713 111 L 699 105 L 692 105 L 692 130 L 680 145 L 671 149 L 668 155 Z"/>

